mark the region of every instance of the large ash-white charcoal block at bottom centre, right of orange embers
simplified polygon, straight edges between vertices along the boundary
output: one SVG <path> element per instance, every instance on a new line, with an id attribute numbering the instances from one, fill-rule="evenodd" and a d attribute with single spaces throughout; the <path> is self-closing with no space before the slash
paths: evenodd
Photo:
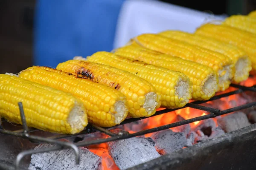
<path id="1" fill-rule="evenodd" d="M 134 137 L 108 143 L 108 151 L 120 170 L 158 158 L 151 138 Z"/>

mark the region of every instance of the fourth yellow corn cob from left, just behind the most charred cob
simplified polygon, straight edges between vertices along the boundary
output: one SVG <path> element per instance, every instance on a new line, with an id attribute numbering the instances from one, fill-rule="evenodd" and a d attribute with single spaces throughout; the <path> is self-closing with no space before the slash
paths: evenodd
<path id="1" fill-rule="evenodd" d="M 128 71 L 150 82 L 156 91 L 161 95 L 161 106 L 164 108 L 179 108 L 186 105 L 191 99 L 191 85 L 189 78 L 184 74 L 166 68 L 146 64 L 134 59 L 128 59 L 113 53 L 101 51 L 87 57 L 88 61 L 110 65 L 112 67 Z M 170 93 L 173 90 L 174 93 Z M 166 93 L 169 91 L 169 93 Z M 167 100 L 167 97 L 175 96 L 175 100 Z M 142 105 L 145 99 L 142 96 L 133 94 L 132 100 L 135 109 Z M 177 102 L 173 107 L 171 102 Z"/>

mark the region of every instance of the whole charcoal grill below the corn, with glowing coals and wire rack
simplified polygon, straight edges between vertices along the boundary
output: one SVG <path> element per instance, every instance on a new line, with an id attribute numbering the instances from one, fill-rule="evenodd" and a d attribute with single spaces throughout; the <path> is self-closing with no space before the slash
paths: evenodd
<path id="1" fill-rule="evenodd" d="M 0 170 L 254 170 L 256 81 L 207 101 L 60 135 L 1 119 Z"/>

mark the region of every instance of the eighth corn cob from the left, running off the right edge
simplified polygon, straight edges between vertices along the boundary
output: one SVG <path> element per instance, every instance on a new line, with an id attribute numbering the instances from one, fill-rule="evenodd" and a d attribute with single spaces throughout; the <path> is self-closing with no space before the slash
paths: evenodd
<path id="1" fill-rule="evenodd" d="M 252 68 L 256 70 L 256 35 L 241 31 L 230 26 L 205 24 L 195 31 L 195 34 L 210 37 L 222 42 L 235 45 L 244 50 L 251 62 Z"/>

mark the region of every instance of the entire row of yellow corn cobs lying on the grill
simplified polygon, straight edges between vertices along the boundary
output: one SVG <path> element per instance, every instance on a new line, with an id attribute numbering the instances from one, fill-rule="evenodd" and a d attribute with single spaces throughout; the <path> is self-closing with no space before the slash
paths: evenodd
<path id="1" fill-rule="evenodd" d="M 256 70 L 256 12 L 194 34 L 142 34 L 126 46 L 75 57 L 56 69 L 33 66 L 0 75 L 0 115 L 56 133 L 78 133 L 87 122 L 109 127 L 127 116 L 151 116 L 160 106 L 180 108 L 207 100 Z"/>

